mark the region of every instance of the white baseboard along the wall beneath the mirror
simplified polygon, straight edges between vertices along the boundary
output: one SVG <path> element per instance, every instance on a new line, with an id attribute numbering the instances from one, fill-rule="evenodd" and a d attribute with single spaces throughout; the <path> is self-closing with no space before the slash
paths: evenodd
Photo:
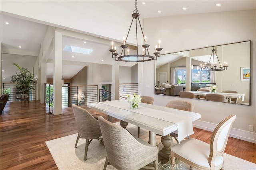
<path id="1" fill-rule="evenodd" d="M 206 131 L 212 132 L 212 131 L 214 131 L 217 124 L 209 123 L 206 121 L 196 120 L 193 122 L 193 126 L 199 128 L 199 129 L 204 129 Z M 232 128 L 229 136 L 234 137 L 236 139 L 241 139 L 243 141 L 256 143 L 256 133 L 254 133 L 254 132 L 249 132 L 249 131 Z"/>

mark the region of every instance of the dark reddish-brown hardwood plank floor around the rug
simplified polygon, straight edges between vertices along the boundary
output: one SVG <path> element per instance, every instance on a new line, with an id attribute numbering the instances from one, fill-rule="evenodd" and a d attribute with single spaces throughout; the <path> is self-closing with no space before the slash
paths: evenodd
<path id="1" fill-rule="evenodd" d="M 87 109 L 94 116 L 107 118 L 103 113 Z M 45 141 L 78 133 L 78 130 L 72 107 L 63 109 L 62 115 L 47 115 L 47 112 L 48 107 L 39 102 L 6 104 L 0 121 L 1 170 L 58 169 Z M 194 128 L 194 132 L 191 137 L 210 143 L 211 132 L 198 128 Z M 230 137 L 225 152 L 256 163 L 254 143 Z"/>

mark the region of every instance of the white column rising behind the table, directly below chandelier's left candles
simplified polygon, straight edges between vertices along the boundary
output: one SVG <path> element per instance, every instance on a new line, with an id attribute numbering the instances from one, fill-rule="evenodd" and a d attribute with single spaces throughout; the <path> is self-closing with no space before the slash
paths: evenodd
<path id="1" fill-rule="evenodd" d="M 119 99 L 119 63 L 112 59 L 112 86 L 111 92 L 113 95 L 112 100 Z"/>

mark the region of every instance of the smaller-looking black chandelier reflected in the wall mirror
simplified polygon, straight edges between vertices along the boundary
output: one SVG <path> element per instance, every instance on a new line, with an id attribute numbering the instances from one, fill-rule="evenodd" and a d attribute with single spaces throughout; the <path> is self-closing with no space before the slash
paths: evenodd
<path id="1" fill-rule="evenodd" d="M 213 63 L 214 62 L 214 53 L 216 55 L 216 61 L 218 60 L 219 68 L 217 68 L 218 67 L 217 62 Z M 212 59 L 212 63 L 211 63 L 211 59 Z M 228 63 L 224 62 L 223 65 L 220 63 L 217 53 L 216 53 L 216 49 L 214 49 L 214 47 L 213 47 L 209 63 L 200 64 L 200 68 L 201 68 L 201 71 L 204 71 L 204 70 L 205 71 L 223 71 L 223 70 L 228 70 Z"/>

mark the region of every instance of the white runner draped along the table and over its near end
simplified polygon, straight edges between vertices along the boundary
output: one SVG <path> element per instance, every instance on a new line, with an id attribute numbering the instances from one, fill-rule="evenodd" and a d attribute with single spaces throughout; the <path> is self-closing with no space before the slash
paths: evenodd
<path id="1" fill-rule="evenodd" d="M 170 121 L 175 123 L 178 131 L 178 141 L 182 141 L 185 137 L 194 134 L 192 119 L 190 117 L 186 117 L 183 115 L 178 115 L 176 113 L 170 113 L 166 111 L 160 111 L 157 109 L 147 108 L 143 106 L 139 106 L 138 109 L 130 109 L 130 104 L 128 102 L 122 100 L 112 100 L 108 102 L 100 102 L 102 104 L 106 104 L 108 106 L 117 107 L 120 109 L 132 111 L 134 113 L 147 115 L 150 117 L 154 117 L 156 119 L 161 119 L 164 121 Z"/>

